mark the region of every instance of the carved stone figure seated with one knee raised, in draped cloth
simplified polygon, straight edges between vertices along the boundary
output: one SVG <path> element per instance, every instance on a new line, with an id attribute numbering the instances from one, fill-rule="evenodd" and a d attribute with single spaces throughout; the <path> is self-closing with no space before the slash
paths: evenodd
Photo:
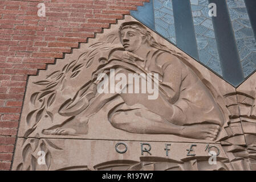
<path id="1" fill-rule="evenodd" d="M 157 43 L 141 23 L 121 24 L 119 36 L 123 48 L 113 48 L 93 73 L 92 79 L 76 92 L 74 98 L 60 106 L 60 115 L 75 118 L 43 133 L 86 134 L 83 125 L 86 125 L 88 118 L 102 106 L 119 99 L 121 103 L 112 105 L 106 113 L 109 122 L 117 129 L 129 133 L 216 139 L 220 127 L 224 125 L 224 110 L 196 73 L 182 63 L 182 57 Z M 110 69 L 115 69 L 115 75 L 111 75 Z M 97 76 L 100 73 L 108 77 L 121 73 L 126 78 L 129 73 L 158 73 L 159 84 L 155 86 L 159 86 L 159 96 L 156 100 L 149 100 L 148 92 L 124 93 L 124 89 L 134 86 L 129 80 L 118 93 L 98 93 L 100 82 Z M 152 78 L 152 82 L 155 79 Z M 109 79 L 107 84 L 111 85 Z"/>

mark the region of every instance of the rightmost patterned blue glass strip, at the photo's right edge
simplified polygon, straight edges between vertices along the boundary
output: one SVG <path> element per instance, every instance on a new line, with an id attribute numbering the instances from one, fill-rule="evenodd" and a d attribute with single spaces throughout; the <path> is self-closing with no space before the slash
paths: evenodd
<path id="1" fill-rule="evenodd" d="M 234 36 L 245 77 L 256 69 L 256 41 L 243 0 L 227 0 Z"/>

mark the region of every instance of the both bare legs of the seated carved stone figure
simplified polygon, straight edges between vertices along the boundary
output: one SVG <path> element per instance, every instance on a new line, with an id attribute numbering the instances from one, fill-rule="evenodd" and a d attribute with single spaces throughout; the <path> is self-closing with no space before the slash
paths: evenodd
<path id="1" fill-rule="evenodd" d="M 116 73 L 128 75 L 129 72 L 121 70 Z M 161 96 L 157 100 L 148 100 L 147 94 L 97 93 L 95 88 L 96 85 L 88 85 L 88 88 L 80 89 L 73 100 L 76 102 L 64 104 L 68 110 L 66 115 L 71 114 L 75 118 L 59 128 L 47 131 L 47 133 L 56 135 L 86 134 L 80 130 L 83 124 L 87 125 L 87 117 L 97 113 L 105 104 L 111 102 L 117 96 L 123 98 L 123 106 L 126 108 L 112 110 L 113 113 L 109 115 L 109 121 L 117 129 L 138 134 L 173 134 L 181 137 L 212 140 L 217 137 L 220 130 L 220 126 L 212 124 L 174 125 L 169 119 L 173 114 L 173 106 Z M 128 90 L 128 86 L 125 89 Z M 139 106 L 136 109 L 132 107 L 136 104 L 141 105 L 141 107 Z M 144 106 L 147 106 L 147 108 Z M 65 115 L 65 109 L 61 111 Z"/>

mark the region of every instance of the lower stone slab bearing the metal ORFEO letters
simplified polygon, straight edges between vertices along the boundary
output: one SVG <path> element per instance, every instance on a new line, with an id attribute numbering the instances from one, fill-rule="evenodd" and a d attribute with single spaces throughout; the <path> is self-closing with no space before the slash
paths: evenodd
<path id="1" fill-rule="evenodd" d="M 169 142 L 135 142 L 121 141 L 127 145 L 127 151 L 119 154 L 115 140 L 83 140 L 83 139 L 22 139 L 17 142 L 13 170 L 209 170 L 231 169 L 226 163 L 227 156 L 220 144 L 213 144 L 210 150 L 218 147 L 217 165 L 209 165 L 207 144 L 197 143 L 187 156 L 190 143 Z M 148 152 L 141 154 L 141 143 Z M 166 156 L 165 144 L 168 146 Z M 212 146 L 212 145 L 210 145 Z M 120 145 L 118 150 L 124 151 Z M 46 163 L 38 164 L 39 151 L 46 152 Z M 192 156 L 194 155 L 194 156 Z M 63 157 L 65 156 L 65 157 Z M 151 165 L 151 168 L 148 168 Z"/>

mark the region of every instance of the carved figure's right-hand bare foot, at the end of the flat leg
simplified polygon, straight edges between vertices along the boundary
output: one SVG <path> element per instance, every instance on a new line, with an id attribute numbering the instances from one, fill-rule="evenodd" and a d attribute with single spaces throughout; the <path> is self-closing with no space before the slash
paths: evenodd
<path id="1" fill-rule="evenodd" d="M 181 135 L 194 139 L 215 140 L 220 132 L 220 126 L 216 124 L 198 124 L 192 126 L 184 126 Z"/>

